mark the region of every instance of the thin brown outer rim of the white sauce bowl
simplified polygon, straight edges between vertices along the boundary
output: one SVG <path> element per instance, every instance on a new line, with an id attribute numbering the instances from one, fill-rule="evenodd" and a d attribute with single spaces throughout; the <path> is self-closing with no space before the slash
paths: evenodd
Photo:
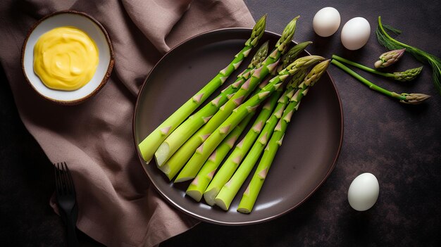
<path id="1" fill-rule="evenodd" d="M 30 79 L 27 77 L 26 72 L 25 72 L 25 49 L 26 49 L 26 44 L 27 44 L 27 41 L 28 41 L 28 39 L 30 37 L 30 34 L 32 34 L 32 32 L 34 32 L 35 28 L 37 28 L 44 20 L 49 19 L 51 17 L 54 17 L 56 15 L 66 15 L 66 14 L 80 15 L 82 17 L 88 18 L 89 20 L 92 21 L 92 23 L 95 23 L 99 27 L 101 32 L 103 32 L 104 37 L 106 37 L 106 42 L 107 42 L 108 50 L 109 50 L 109 53 L 110 53 L 109 54 L 110 55 L 110 61 L 108 62 L 106 73 L 104 74 L 104 77 L 101 80 L 101 82 L 99 83 L 98 87 L 96 87 L 94 89 L 94 91 L 92 91 L 91 93 L 87 94 L 86 96 L 83 96 L 80 99 L 74 99 L 74 100 L 71 100 L 71 101 L 63 101 L 63 100 L 59 100 L 59 99 L 53 99 L 53 98 L 51 98 L 49 96 L 46 96 L 46 95 L 40 93 L 34 87 L 34 84 L 32 84 L 32 82 L 30 82 Z M 34 23 L 32 25 L 32 27 L 30 27 L 30 30 L 27 32 L 26 37 L 25 37 L 25 41 L 23 42 L 23 46 L 22 46 L 22 49 L 21 49 L 21 68 L 23 70 L 23 75 L 25 75 L 27 84 L 30 84 L 30 87 L 32 87 L 32 89 L 34 89 L 34 91 L 36 91 L 37 94 L 39 94 L 39 96 L 42 96 L 43 99 L 46 99 L 46 100 L 51 101 L 51 102 L 59 103 L 61 105 L 66 105 L 66 106 L 77 105 L 77 104 L 82 103 L 83 101 L 89 99 L 90 97 L 94 96 L 95 94 L 97 94 L 98 91 L 102 87 L 104 87 L 104 84 L 106 84 L 108 78 L 110 77 L 111 72 L 113 70 L 113 65 L 114 64 L 115 64 L 115 58 L 114 58 L 114 54 L 113 54 L 113 46 L 112 46 L 111 39 L 108 36 L 108 32 L 106 31 L 104 26 L 101 25 L 101 23 L 99 23 L 99 21 L 97 19 L 93 18 L 91 15 L 88 15 L 87 13 L 80 12 L 80 11 L 73 11 L 73 10 L 56 11 L 54 13 L 50 13 L 49 15 L 45 15 L 43 18 L 37 20 L 37 22 Z"/>

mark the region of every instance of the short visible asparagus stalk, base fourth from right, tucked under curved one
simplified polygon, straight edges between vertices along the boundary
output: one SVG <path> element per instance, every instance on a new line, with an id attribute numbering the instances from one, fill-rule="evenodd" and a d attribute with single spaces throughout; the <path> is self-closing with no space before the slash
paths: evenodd
<path id="1" fill-rule="evenodd" d="M 230 134 L 228 134 L 228 137 L 221 142 L 216 150 L 211 153 L 210 158 L 206 160 L 204 166 L 188 186 L 187 191 L 185 192 L 188 196 L 192 197 L 195 201 L 201 201 L 202 194 L 204 193 L 206 186 L 209 185 L 211 178 L 213 178 L 216 169 L 221 165 L 223 158 L 227 156 L 228 152 L 235 145 L 235 142 L 247 127 L 248 122 L 253 116 L 254 114 L 249 114 L 247 118 L 242 120 L 242 122 L 240 122 Z"/>

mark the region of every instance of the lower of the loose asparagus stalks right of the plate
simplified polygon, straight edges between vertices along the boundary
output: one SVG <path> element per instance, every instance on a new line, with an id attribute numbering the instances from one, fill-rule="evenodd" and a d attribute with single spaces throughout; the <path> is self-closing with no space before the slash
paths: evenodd
<path id="1" fill-rule="evenodd" d="M 401 103 L 409 103 L 412 105 L 417 105 L 417 104 L 422 103 L 423 101 L 426 101 L 427 99 L 430 98 L 430 95 L 426 95 L 426 94 L 407 94 L 407 93 L 397 94 L 393 91 L 388 91 L 387 89 L 383 89 L 383 87 L 378 87 L 377 85 L 373 84 L 372 82 L 369 82 L 364 77 L 361 77 L 361 75 L 354 72 L 354 70 L 347 68 L 345 65 L 343 65 L 342 63 L 340 63 L 339 61 L 337 61 L 335 59 L 333 59 L 331 61 L 331 63 L 333 65 L 337 66 L 338 68 L 342 69 L 344 72 L 347 72 L 349 75 L 352 75 L 360 82 L 363 82 L 370 89 L 378 91 L 381 94 L 385 94 L 385 95 L 390 96 L 392 98 L 398 99 L 399 102 L 401 102 Z"/>

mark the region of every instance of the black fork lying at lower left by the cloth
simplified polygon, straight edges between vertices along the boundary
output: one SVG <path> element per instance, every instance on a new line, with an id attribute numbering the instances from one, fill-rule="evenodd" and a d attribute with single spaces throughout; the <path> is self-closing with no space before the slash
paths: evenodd
<path id="1" fill-rule="evenodd" d="M 72 175 L 70 175 L 66 162 L 56 163 L 54 166 L 56 201 L 58 208 L 60 208 L 61 218 L 66 223 L 68 246 L 78 246 L 77 234 L 75 232 L 78 209 Z"/>

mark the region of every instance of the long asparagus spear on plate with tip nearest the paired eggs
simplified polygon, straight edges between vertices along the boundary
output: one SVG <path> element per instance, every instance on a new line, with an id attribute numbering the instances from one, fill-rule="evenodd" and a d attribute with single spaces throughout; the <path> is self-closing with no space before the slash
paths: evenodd
<path id="1" fill-rule="evenodd" d="M 182 145 L 178 151 L 176 151 L 172 157 L 168 159 L 168 161 L 160 167 L 160 169 L 166 173 L 169 179 L 175 177 L 175 175 L 179 172 L 182 166 L 187 163 L 192 157 L 192 154 L 196 149 L 205 141 L 207 137 L 220 125 L 248 95 L 251 91 L 253 91 L 254 87 L 256 87 L 259 82 L 263 80 L 263 78 L 268 75 L 269 72 L 275 70 L 276 65 L 278 64 L 278 59 L 285 53 L 287 44 L 290 44 L 292 36 L 294 35 L 295 27 L 297 24 L 297 18 L 294 18 L 288 25 L 285 27 L 285 30 L 282 33 L 282 37 L 280 37 L 278 43 L 275 46 L 274 51 L 263 61 L 263 65 L 256 69 L 242 87 L 235 93 L 232 98 L 222 106 L 218 112 L 213 115 L 213 117 L 207 122 L 201 129 L 199 129 L 190 139 Z M 194 178 L 194 177 L 192 177 Z M 192 179 L 188 178 L 188 179 Z M 175 182 L 179 182 L 178 179 Z"/>

